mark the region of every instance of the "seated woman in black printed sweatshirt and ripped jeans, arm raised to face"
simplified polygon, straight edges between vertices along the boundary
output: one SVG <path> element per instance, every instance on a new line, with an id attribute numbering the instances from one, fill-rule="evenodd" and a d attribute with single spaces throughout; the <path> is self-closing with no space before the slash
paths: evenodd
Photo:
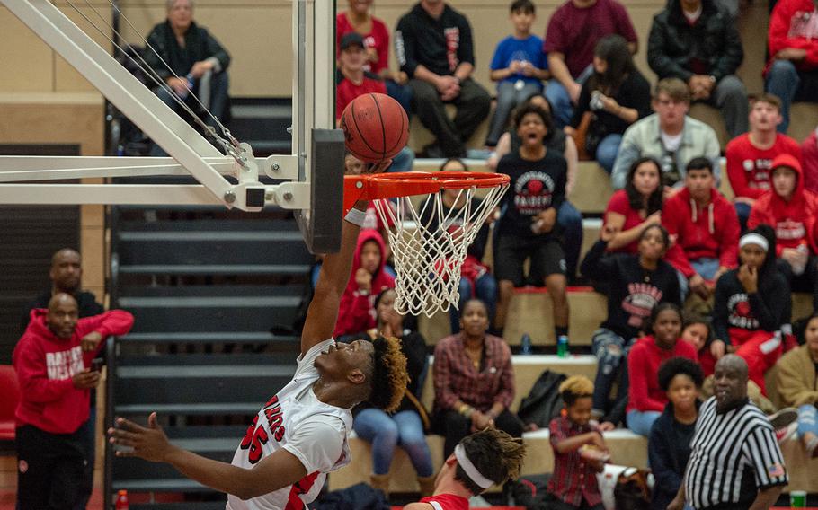
<path id="1" fill-rule="evenodd" d="M 616 253 L 603 257 L 610 233 L 593 245 L 582 260 L 582 274 L 609 284 L 608 319 L 593 332 L 591 349 L 598 358 L 594 382 L 593 414 L 604 423 L 625 422 L 627 405 L 627 353 L 645 331 L 645 320 L 659 303 L 680 305 L 679 278 L 662 258 L 670 239 L 662 225 L 653 224 L 639 237 L 638 254 Z M 618 382 L 617 397 L 610 391 Z"/>

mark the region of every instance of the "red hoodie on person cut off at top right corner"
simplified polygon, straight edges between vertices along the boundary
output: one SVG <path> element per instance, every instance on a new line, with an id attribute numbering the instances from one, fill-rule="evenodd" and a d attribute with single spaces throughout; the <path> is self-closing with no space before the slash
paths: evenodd
<path id="1" fill-rule="evenodd" d="M 806 57 L 796 62 L 800 70 L 818 68 L 818 32 L 813 0 L 778 0 L 769 16 L 769 62 L 765 73 L 772 66 L 776 54 L 784 48 L 805 49 Z"/>

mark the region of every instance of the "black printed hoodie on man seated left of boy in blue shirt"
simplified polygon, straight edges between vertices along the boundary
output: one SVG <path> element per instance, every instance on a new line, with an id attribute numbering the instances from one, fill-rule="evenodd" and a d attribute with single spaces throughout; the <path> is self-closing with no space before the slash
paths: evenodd
<path id="1" fill-rule="evenodd" d="M 436 75 L 454 75 L 461 62 L 475 65 L 472 29 L 466 16 L 449 5 L 434 19 L 415 4 L 397 22 L 395 56 L 401 71 L 414 76 L 417 66 Z"/>

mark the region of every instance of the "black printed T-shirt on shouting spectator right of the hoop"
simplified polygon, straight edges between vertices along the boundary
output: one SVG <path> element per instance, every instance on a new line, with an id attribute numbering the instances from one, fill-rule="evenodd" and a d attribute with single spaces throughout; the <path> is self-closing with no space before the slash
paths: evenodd
<path id="1" fill-rule="evenodd" d="M 503 235 L 531 237 L 531 219 L 551 207 L 559 210 L 565 201 L 568 163 L 563 154 L 547 150 L 546 156 L 537 161 L 524 160 L 519 153 L 506 154 L 497 163 L 497 172 L 511 177 L 509 190 L 502 199 Z M 555 224 L 550 233 L 540 235 L 545 239 L 556 232 Z"/>

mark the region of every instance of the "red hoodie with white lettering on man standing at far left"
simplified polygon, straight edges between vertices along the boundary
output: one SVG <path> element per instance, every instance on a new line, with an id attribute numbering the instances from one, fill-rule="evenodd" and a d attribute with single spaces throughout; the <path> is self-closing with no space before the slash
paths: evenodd
<path id="1" fill-rule="evenodd" d="M 90 390 L 78 390 L 71 378 L 91 365 L 96 352 L 82 352 L 80 340 L 93 331 L 102 338 L 124 335 L 133 315 L 111 310 L 76 322 L 70 339 L 58 339 L 46 324 L 48 310 L 31 311 L 31 321 L 12 356 L 20 381 L 17 426 L 32 425 L 51 434 L 73 434 L 88 419 Z"/>

